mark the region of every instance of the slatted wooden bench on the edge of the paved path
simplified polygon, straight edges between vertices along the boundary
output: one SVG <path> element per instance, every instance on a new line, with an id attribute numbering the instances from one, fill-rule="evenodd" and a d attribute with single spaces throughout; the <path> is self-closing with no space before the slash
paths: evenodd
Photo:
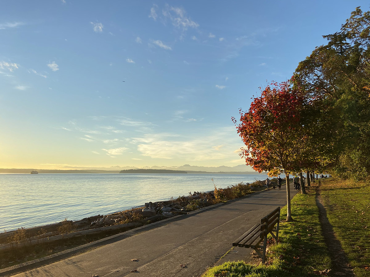
<path id="1" fill-rule="evenodd" d="M 262 263 L 265 263 L 267 235 L 270 233 L 277 241 L 279 236 L 279 219 L 280 207 L 276 208 L 268 215 L 261 219 L 261 223 L 257 223 L 250 228 L 244 235 L 239 237 L 232 243 L 233 246 L 252 248 L 262 258 Z M 274 229 L 276 225 L 276 228 Z M 275 232 L 276 234 L 274 234 Z M 260 243 L 263 241 L 263 245 Z M 262 250 L 262 251 L 261 251 Z M 261 253 L 262 252 L 262 253 Z"/>

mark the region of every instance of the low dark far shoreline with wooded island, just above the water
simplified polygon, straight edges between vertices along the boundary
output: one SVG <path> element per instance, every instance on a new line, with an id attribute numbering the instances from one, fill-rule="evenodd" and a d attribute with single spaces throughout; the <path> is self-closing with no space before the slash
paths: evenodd
<path id="1" fill-rule="evenodd" d="M 258 173 L 253 171 L 219 171 L 219 172 L 209 172 L 209 171 L 192 171 L 192 170 L 165 170 L 165 169 L 142 169 L 142 172 L 135 172 L 137 170 L 54 170 L 54 169 L 35 169 L 35 168 L 0 168 L 0 173 L 3 174 L 30 174 L 31 171 L 36 170 L 38 173 L 48 173 L 48 174 L 114 174 L 122 172 L 125 174 L 261 174 L 266 175 L 266 173 Z M 132 171 L 132 172 L 131 172 Z M 151 171 L 151 172 L 149 172 Z"/>

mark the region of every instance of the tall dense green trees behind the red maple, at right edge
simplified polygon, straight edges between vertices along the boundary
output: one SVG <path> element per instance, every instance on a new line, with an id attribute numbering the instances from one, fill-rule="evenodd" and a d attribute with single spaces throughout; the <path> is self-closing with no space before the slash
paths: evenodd
<path id="1" fill-rule="evenodd" d="M 295 83 L 318 114 L 321 170 L 370 182 L 370 12 L 359 7 L 326 45 L 300 62 Z M 317 169 L 317 168 L 313 168 Z"/>

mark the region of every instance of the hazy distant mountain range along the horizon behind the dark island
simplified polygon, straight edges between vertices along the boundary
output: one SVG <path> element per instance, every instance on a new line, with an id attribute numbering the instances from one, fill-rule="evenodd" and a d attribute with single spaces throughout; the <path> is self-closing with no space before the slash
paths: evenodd
<path id="1" fill-rule="evenodd" d="M 18 169 L 18 168 L 0 168 L 0 173 L 30 173 L 33 170 L 37 170 L 39 173 L 119 173 L 121 170 L 131 170 L 131 169 L 162 169 L 162 170 L 180 170 L 186 171 L 188 173 L 253 173 L 258 174 L 258 172 L 254 171 L 251 167 L 240 164 L 234 167 L 227 167 L 225 165 L 219 167 L 198 167 L 195 165 L 184 164 L 179 167 L 159 167 L 159 166 L 152 166 L 152 167 L 120 167 L 119 165 L 112 166 L 112 167 L 71 167 L 65 166 L 63 170 L 51 170 L 51 169 L 36 169 L 36 168 L 28 168 L 28 169 Z"/>

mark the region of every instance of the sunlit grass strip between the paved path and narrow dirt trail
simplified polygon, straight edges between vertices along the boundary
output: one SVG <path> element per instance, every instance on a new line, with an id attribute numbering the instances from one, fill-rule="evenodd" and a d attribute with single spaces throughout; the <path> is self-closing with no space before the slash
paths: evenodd
<path id="1" fill-rule="evenodd" d="M 331 260 L 322 236 L 314 190 L 292 199 L 294 222 L 280 222 L 279 243 L 269 245 L 266 264 L 226 262 L 208 269 L 202 277 L 262 277 L 326 275 Z M 286 218 L 286 207 L 280 220 Z"/>

